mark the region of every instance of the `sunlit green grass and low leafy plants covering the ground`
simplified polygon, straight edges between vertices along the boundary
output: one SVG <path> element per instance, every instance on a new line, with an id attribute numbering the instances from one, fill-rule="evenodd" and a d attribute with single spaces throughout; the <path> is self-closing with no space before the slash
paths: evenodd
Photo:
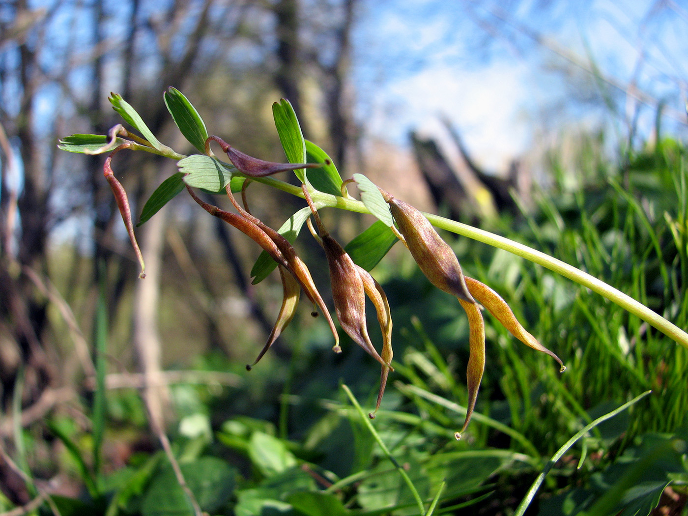
<path id="1" fill-rule="evenodd" d="M 182 102 L 182 96 L 171 99 Z M 116 108 L 140 131 L 120 100 Z M 207 134 L 193 133 L 193 123 L 185 126 L 180 111 L 171 112 L 202 151 Z M 484 225 L 602 279 L 685 329 L 688 149 L 658 131 L 654 144 L 609 156 L 600 138 L 581 138 L 574 163 L 561 162 L 552 151 L 549 184 L 535 193 L 534 206 Z M 105 136 L 65 140 L 63 146 L 84 149 L 107 143 Z M 323 162 L 316 149 L 310 151 L 309 158 Z M 182 172 L 200 170 L 192 170 L 200 165 L 190 158 L 173 157 Z M 174 177 L 176 195 L 184 184 L 181 175 Z M 201 181 L 206 179 L 191 186 L 213 190 Z M 363 182 L 358 184 L 363 191 Z M 219 186 L 213 191 L 222 191 L 224 184 Z M 253 189 L 266 192 L 268 186 L 250 186 L 249 199 Z M 321 183 L 318 189 L 327 188 Z M 158 204 L 174 196 L 165 195 Z M 331 209 L 318 203 L 314 196 L 319 211 Z M 310 211 L 305 213 L 304 221 Z M 160 380 L 169 388 L 174 414 L 166 433 L 156 433 L 136 378 L 122 372 L 124 383 L 114 385 L 117 365 L 108 357 L 129 329 L 108 312 L 106 292 L 113 286 L 104 278 L 93 320 L 91 383 L 22 427 L 17 380 L 10 402 L 14 426 L 5 434 L 11 446 L 3 448 L 3 460 L 19 487 L 0 495 L 0 508 L 65 516 L 688 514 L 687 347 L 524 257 L 444 230 L 441 235 L 466 277 L 499 292 L 524 327 L 561 357 L 566 372 L 486 315 L 480 396 L 471 425 L 455 440 L 470 404 L 465 371 L 471 328 L 455 297 L 432 288 L 409 253 L 395 248 L 374 269 L 395 323 L 394 372 L 374 420 L 367 413 L 376 405 L 379 361 L 343 332 L 342 352 L 334 354 L 327 325 L 297 316 L 277 350 L 250 372 L 245 364 L 262 342 L 248 331 L 235 343 L 246 350 L 237 353 L 240 358 L 216 349 L 187 357 L 184 369 L 170 367 Z M 59 259 L 56 252 L 56 270 Z M 85 259 L 85 267 L 96 266 Z M 169 313 L 163 320 L 179 319 L 166 331 L 187 335 L 189 330 L 177 328 L 186 319 L 199 324 L 200 303 L 195 310 L 197 300 L 171 287 L 164 297 Z M 183 304 L 192 308 L 178 317 L 175 307 Z M 368 321 L 376 321 L 375 310 L 368 312 Z M 384 332 L 371 331 L 371 338 L 383 349 Z M 161 435 L 169 437 L 162 449 Z M 62 491 L 47 479 L 63 482 Z"/>

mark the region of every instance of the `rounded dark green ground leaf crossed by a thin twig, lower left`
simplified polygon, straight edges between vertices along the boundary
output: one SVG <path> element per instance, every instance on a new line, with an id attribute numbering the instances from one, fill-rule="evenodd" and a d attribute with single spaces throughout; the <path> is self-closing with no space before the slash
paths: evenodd
<path id="1" fill-rule="evenodd" d="M 236 471 L 219 458 L 202 457 L 180 464 L 202 510 L 213 513 L 232 495 Z M 191 502 L 180 486 L 171 464 L 164 464 L 151 480 L 141 506 L 143 516 L 186 516 L 193 514 Z"/>

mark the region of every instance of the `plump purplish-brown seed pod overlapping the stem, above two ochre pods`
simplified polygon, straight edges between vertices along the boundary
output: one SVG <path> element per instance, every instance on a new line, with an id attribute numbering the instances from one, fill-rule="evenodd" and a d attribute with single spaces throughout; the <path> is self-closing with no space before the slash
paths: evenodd
<path id="1" fill-rule="evenodd" d="M 399 226 L 399 232 L 404 235 L 406 246 L 427 279 L 440 290 L 475 303 L 466 287 L 456 255 L 429 220 L 410 204 L 380 191 L 389 204 L 389 211 Z"/>

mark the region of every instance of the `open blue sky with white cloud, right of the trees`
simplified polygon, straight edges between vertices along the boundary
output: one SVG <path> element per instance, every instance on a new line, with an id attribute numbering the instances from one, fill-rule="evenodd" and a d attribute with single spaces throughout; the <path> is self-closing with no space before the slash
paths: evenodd
<path id="1" fill-rule="evenodd" d="M 497 2 L 371 0 L 364 5 L 356 85 L 359 116 L 376 136 L 404 142 L 413 128 L 442 138 L 438 115 L 447 115 L 484 166 L 504 170 L 537 134 L 601 123 L 605 110 L 599 103 L 574 102 L 581 93 L 576 81 L 592 76 L 577 67 L 572 67 L 573 80 L 555 72 L 570 63 L 523 30 L 499 25 L 489 14 L 500 14 Z M 543 5 L 523 1 L 506 15 L 537 31 L 551 47 L 583 63 L 594 61 L 621 85 L 635 81 L 641 92 L 666 100 L 680 118 L 688 80 L 688 60 L 680 58 L 688 55 L 685 0 Z M 495 32 L 488 36 L 476 21 Z M 633 100 L 619 97 L 617 121 L 636 108 Z M 685 139 L 683 120 L 681 125 L 669 119 L 667 127 Z M 649 130 L 654 111 L 641 109 L 640 122 Z"/>

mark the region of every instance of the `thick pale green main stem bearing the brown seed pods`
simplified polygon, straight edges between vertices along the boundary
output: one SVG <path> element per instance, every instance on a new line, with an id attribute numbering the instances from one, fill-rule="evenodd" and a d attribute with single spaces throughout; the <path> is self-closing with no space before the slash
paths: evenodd
<path id="1" fill-rule="evenodd" d="M 273 178 L 256 178 L 256 181 L 268 184 L 276 189 L 303 198 L 303 192 L 298 186 L 294 186 Z M 357 213 L 370 213 L 361 201 L 345 199 L 344 197 L 337 197 L 336 195 L 330 195 L 329 193 L 322 192 L 313 192 L 311 196 L 313 197 L 313 200 L 318 202 L 321 206 L 341 208 L 343 210 L 354 211 Z M 574 266 L 569 265 L 557 258 L 551 257 L 544 252 L 533 249 L 524 244 L 519 244 L 517 241 L 495 235 L 495 233 L 474 228 L 473 226 L 462 224 L 461 222 L 456 222 L 451 219 L 446 219 L 438 215 L 432 215 L 431 213 L 423 213 L 423 215 L 427 217 L 433 226 L 451 231 L 452 233 L 456 233 L 462 237 L 469 237 L 473 240 L 480 241 L 483 244 L 488 244 L 489 246 L 512 252 L 514 255 L 532 261 L 534 264 L 548 268 L 549 270 L 557 272 L 563 277 L 579 283 L 579 285 L 589 288 L 593 292 L 596 292 L 602 297 L 605 297 L 606 299 L 609 299 L 610 301 L 621 306 L 621 308 L 624 310 L 627 310 L 628 312 L 640 317 L 643 319 L 643 321 L 646 321 L 650 325 L 654 326 L 657 330 L 674 339 L 674 341 L 688 350 L 688 333 L 681 330 L 674 323 L 667 321 L 667 319 L 665 319 L 663 316 L 660 316 L 660 314 L 650 310 L 647 308 L 647 306 L 643 305 L 643 303 L 636 301 L 629 295 L 624 294 L 621 292 L 621 290 L 617 290 L 616 288 L 608 285 L 608 283 L 605 283 L 601 279 L 597 279 L 596 277 L 589 275 L 587 272 L 583 272 L 582 270 L 575 268 Z"/>

